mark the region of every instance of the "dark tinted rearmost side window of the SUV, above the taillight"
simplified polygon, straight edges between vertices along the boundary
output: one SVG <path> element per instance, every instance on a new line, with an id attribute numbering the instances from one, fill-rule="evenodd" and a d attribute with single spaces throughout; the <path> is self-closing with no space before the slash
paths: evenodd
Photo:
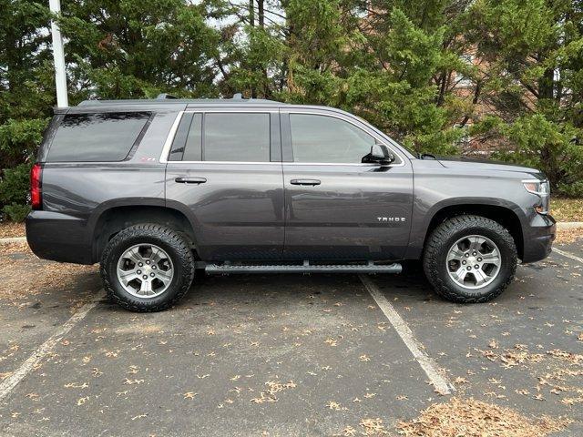
<path id="1" fill-rule="evenodd" d="M 63 118 L 47 161 L 121 161 L 128 156 L 149 113 L 75 114 Z"/>

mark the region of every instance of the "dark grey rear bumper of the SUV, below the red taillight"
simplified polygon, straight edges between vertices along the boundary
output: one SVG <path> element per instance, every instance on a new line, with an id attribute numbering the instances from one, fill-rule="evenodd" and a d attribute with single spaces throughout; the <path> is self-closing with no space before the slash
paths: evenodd
<path id="1" fill-rule="evenodd" d="M 87 222 L 52 211 L 32 211 L 26 217 L 26 240 L 38 258 L 93 264 Z"/>

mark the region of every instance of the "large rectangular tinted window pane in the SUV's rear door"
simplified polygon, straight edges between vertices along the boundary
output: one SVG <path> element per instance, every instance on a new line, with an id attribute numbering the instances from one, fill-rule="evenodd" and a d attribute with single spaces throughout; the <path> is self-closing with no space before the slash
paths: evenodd
<path id="1" fill-rule="evenodd" d="M 220 114 L 204 116 L 205 161 L 268 162 L 269 114 Z"/>

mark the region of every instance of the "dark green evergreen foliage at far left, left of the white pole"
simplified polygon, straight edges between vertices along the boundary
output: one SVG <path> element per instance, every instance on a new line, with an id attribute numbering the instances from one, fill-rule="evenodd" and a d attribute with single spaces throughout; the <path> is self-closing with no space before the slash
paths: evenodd
<path id="1" fill-rule="evenodd" d="M 24 219 L 31 158 L 55 101 L 50 15 L 28 0 L 0 0 L 0 10 L 0 210 Z"/>

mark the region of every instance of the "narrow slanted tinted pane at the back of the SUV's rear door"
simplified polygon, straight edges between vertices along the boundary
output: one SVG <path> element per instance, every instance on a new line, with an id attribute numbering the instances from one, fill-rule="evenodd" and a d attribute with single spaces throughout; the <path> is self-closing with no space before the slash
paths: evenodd
<path id="1" fill-rule="evenodd" d="M 185 112 L 172 141 L 169 161 L 202 159 L 202 114 Z"/>

